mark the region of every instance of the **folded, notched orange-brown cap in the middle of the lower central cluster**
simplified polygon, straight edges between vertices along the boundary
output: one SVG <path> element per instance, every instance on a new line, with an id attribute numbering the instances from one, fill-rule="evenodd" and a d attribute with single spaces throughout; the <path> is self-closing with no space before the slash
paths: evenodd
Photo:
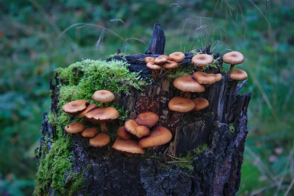
<path id="1" fill-rule="evenodd" d="M 150 134 L 147 126 L 140 125 L 134 120 L 128 120 L 124 123 L 124 128 L 127 132 L 135 135 L 137 138 L 142 138 Z"/>

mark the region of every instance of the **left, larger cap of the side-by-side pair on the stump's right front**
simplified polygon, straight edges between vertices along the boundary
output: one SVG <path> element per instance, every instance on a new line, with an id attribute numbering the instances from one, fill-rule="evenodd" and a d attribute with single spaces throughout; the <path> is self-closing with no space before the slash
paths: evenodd
<path id="1" fill-rule="evenodd" d="M 169 102 L 169 109 L 176 112 L 189 112 L 195 108 L 195 103 L 189 98 L 174 97 Z"/>

